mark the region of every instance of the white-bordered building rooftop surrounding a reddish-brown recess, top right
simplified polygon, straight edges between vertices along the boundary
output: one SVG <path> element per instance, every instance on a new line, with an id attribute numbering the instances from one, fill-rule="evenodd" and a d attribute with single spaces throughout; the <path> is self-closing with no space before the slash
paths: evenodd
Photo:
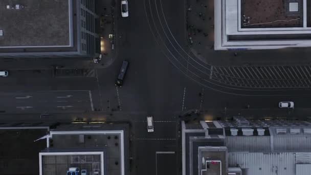
<path id="1" fill-rule="evenodd" d="M 215 1 L 215 50 L 311 46 L 307 0 Z"/>

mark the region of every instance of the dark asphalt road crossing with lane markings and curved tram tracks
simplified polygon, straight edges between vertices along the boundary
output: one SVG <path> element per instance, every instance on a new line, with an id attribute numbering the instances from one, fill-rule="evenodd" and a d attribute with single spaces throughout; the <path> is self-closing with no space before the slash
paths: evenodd
<path id="1" fill-rule="evenodd" d="M 202 79 L 202 74 L 210 74 L 204 69 L 189 69 L 189 63 L 198 60 L 188 59 L 184 8 L 185 4 L 177 0 L 129 1 L 128 18 L 121 18 L 117 8 L 118 56 L 106 69 L 94 70 L 88 65 L 86 74 L 59 72 L 55 76 L 53 70 L 20 71 L 13 69 L 14 61 L 7 62 L 12 70 L 9 77 L 0 78 L 2 119 L 59 121 L 82 116 L 130 121 L 135 146 L 132 174 L 154 175 L 167 171 L 180 174 L 177 121 L 188 110 L 203 111 L 201 119 L 235 115 L 307 117 L 311 101 L 307 87 L 233 88 L 214 83 L 209 76 Z M 115 80 L 124 59 L 129 61 L 129 68 L 124 85 L 118 88 Z M 26 67 L 27 62 L 23 64 Z M 83 68 L 78 62 L 73 64 Z M 295 102 L 294 110 L 278 108 L 279 101 L 289 100 Z M 51 117 L 40 119 L 42 113 Z M 146 115 L 154 116 L 154 133 L 147 133 Z"/>

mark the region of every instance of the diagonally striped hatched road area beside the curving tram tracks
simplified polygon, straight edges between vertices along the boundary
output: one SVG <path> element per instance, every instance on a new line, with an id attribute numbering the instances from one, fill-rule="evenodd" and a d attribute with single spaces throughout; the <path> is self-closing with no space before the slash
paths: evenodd
<path id="1" fill-rule="evenodd" d="M 311 67 L 293 66 L 213 66 L 211 80 L 244 88 L 310 88 Z"/>

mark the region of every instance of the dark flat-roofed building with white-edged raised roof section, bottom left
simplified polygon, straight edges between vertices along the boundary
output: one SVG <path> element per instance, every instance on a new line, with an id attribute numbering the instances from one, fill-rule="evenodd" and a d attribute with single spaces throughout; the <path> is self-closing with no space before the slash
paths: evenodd
<path id="1" fill-rule="evenodd" d="M 70 167 L 124 175 L 127 127 L 103 123 L 59 125 L 50 131 L 47 149 L 40 152 L 40 175 L 65 174 Z"/>

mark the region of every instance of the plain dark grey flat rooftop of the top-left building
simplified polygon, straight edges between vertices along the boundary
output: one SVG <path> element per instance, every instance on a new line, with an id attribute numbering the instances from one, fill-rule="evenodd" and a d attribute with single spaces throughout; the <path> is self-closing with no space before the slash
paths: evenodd
<path id="1" fill-rule="evenodd" d="M 69 25 L 69 1 L 0 1 L 0 48 L 69 46 Z"/>

